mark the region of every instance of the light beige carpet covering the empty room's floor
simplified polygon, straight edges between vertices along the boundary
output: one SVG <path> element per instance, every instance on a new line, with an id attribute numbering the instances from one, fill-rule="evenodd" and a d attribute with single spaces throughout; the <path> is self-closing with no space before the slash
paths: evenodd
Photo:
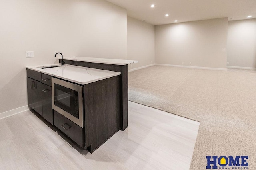
<path id="1" fill-rule="evenodd" d="M 249 156 L 256 170 L 256 71 L 151 66 L 128 75 L 129 100 L 200 121 L 191 170 L 206 156 Z"/>

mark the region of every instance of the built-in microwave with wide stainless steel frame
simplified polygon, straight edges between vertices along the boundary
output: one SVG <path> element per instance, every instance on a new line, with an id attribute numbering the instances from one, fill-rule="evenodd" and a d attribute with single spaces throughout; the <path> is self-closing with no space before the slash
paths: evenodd
<path id="1" fill-rule="evenodd" d="M 52 78 L 52 109 L 80 127 L 84 127 L 83 87 L 65 80 Z"/>

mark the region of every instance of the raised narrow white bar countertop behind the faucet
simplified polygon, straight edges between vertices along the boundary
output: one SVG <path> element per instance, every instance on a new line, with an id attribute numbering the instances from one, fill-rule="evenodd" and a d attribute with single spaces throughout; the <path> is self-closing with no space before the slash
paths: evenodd
<path id="1" fill-rule="evenodd" d="M 58 57 L 61 59 L 61 57 Z M 122 60 L 122 59 L 104 59 L 104 58 L 93 58 L 93 57 L 63 57 L 64 60 L 73 60 L 73 61 L 85 61 L 91 63 L 103 63 L 103 64 L 114 64 L 114 65 L 127 65 L 138 63 L 137 60 Z"/>

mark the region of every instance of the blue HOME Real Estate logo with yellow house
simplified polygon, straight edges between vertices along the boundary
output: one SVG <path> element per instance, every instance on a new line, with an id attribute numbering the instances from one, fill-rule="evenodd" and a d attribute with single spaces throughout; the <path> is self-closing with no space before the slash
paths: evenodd
<path id="1" fill-rule="evenodd" d="M 206 169 L 249 169 L 248 156 L 206 156 L 206 159 Z"/>

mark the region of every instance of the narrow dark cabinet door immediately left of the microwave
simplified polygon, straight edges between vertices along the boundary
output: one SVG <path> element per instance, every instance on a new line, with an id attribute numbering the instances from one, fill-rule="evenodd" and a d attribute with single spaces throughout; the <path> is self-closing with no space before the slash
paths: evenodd
<path id="1" fill-rule="evenodd" d="M 43 104 L 43 117 L 53 125 L 53 111 L 52 111 L 52 88 L 42 84 L 42 104 Z"/>

